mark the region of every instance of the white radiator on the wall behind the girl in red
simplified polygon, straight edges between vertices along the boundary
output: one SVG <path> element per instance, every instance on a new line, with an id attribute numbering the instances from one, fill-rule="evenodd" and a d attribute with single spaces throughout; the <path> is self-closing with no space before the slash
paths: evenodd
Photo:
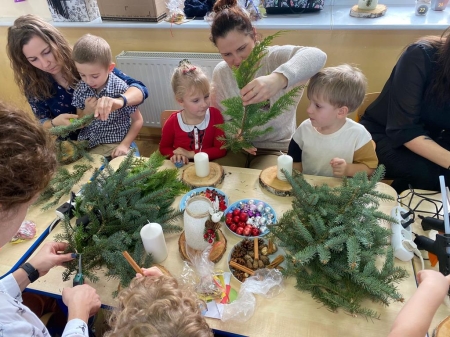
<path id="1" fill-rule="evenodd" d="M 144 126 L 160 128 L 161 112 L 181 108 L 175 101 L 170 79 L 182 59 L 200 66 L 210 80 L 214 67 L 222 61 L 221 55 L 216 53 L 123 51 L 117 55 L 117 68 L 148 88 L 149 97 L 140 106 Z"/>

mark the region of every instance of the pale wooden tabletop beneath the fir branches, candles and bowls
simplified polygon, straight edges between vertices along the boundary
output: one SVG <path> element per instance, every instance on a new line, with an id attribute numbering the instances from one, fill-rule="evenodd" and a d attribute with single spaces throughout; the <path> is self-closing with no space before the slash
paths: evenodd
<path id="1" fill-rule="evenodd" d="M 118 161 L 113 161 L 112 165 L 117 167 Z M 164 164 L 167 167 L 174 167 L 170 162 Z M 225 179 L 217 188 L 224 191 L 230 203 L 244 198 L 261 199 L 269 203 L 277 212 L 277 216 L 291 208 L 291 197 L 275 196 L 259 186 L 258 178 L 260 170 L 224 167 Z M 180 170 L 181 171 L 181 170 Z M 310 183 L 328 184 L 336 186 L 340 184 L 339 179 L 307 176 Z M 396 197 L 395 191 L 388 185 L 380 183 L 378 190 Z M 177 197 L 174 207 L 178 207 L 181 196 Z M 381 202 L 380 209 L 389 214 L 396 202 Z M 182 225 L 180 221 L 179 225 Z M 223 229 L 228 240 L 227 252 L 217 263 L 217 269 L 228 271 L 227 256 L 240 238 L 232 234 L 228 229 Z M 178 277 L 183 269 L 183 261 L 178 252 L 179 234 L 166 235 L 169 257 L 162 262 L 175 277 Z M 47 240 L 50 240 L 48 238 Z M 408 270 L 410 277 L 399 284 L 400 292 L 405 299 L 411 297 L 416 290 L 416 283 L 413 276 L 412 265 L 409 262 L 396 261 L 397 265 Z M 70 287 L 71 280 L 61 281 L 62 268 L 50 270 L 49 274 L 30 285 L 30 288 L 47 292 L 53 295 L 60 295 L 64 287 Z M 98 272 L 102 275 L 102 271 Z M 232 287 L 237 290 L 240 284 L 232 280 Z M 112 291 L 117 289 L 116 280 L 106 280 L 104 277 L 93 285 L 102 298 L 102 302 L 114 306 L 116 301 L 112 298 Z M 257 297 L 257 306 L 253 317 L 245 323 L 222 322 L 215 319 L 207 319 L 208 324 L 218 330 L 243 334 L 247 336 L 386 336 L 390 327 L 402 307 L 402 303 L 393 303 L 389 307 L 380 304 L 367 303 L 380 315 L 380 320 L 366 320 L 363 317 L 354 318 L 344 312 L 332 313 L 322 304 L 313 300 L 309 293 L 300 292 L 295 289 L 295 280 L 289 278 L 285 280 L 285 289 L 277 297 L 266 299 Z"/>

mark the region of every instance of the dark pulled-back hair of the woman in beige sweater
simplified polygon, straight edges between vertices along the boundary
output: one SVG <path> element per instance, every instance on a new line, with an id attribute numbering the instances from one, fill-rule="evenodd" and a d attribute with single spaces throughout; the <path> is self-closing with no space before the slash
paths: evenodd
<path id="1" fill-rule="evenodd" d="M 237 5 L 237 0 L 217 0 L 213 12 L 209 39 L 214 45 L 218 38 L 224 38 L 233 30 L 256 38 L 250 17 Z"/>

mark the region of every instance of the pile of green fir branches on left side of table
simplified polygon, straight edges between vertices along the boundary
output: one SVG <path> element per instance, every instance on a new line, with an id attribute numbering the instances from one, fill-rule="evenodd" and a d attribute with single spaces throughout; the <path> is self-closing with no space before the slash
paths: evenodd
<path id="1" fill-rule="evenodd" d="M 114 171 L 105 161 L 77 197 L 75 217 L 84 224 L 74 225 L 65 219 L 64 233 L 56 240 L 67 241 L 68 251 L 82 254 L 83 273 L 95 282 L 94 271 L 106 267 L 106 276 L 120 279 L 127 286 L 135 276 L 122 255 L 128 251 L 140 266 L 152 264 L 140 237 L 148 222 L 161 224 L 165 233 L 181 228 L 174 221 L 182 214 L 171 208 L 175 196 L 187 191 L 177 179 L 176 169 L 158 171 L 164 157 L 155 152 L 148 160 L 136 159 L 130 153 Z M 63 279 L 77 270 L 76 261 L 69 263 Z"/>

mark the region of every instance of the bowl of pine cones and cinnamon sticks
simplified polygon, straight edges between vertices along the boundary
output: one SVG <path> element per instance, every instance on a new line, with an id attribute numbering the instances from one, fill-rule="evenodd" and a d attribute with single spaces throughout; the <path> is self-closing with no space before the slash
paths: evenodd
<path id="1" fill-rule="evenodd" d="M 286 268 L 285 251 L 272 240 L 265 238 L 244 239 L 236 244 L 228 256 L 228 268 L 240 282 L 252 276 L 256 270 Z"/>

